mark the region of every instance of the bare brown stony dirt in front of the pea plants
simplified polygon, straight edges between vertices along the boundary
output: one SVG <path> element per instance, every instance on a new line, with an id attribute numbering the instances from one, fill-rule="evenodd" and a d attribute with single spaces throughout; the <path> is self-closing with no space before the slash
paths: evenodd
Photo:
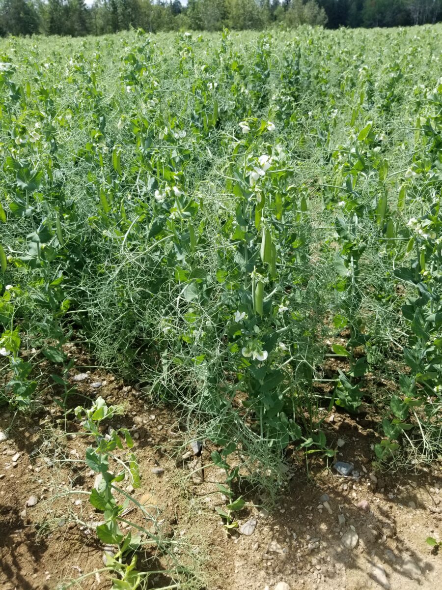
<path id="1" fill-rule="evenodd" d="M 90 388 L 93 381 L 107 383 L 94 391 Z M 307 470 L 305 459 L 292 452 L 286 459 L 289 485 L 281 490 L 269 516 L 260 514 L 260 506 L 271 507 L 271 501 L 251 491 L 245 494 L 248 506 L 238 520 L 256 519 L 255 532 L 227 535 L 215 511 L 216 506 L 225 505 L 216 487 L 216 482 L 223 482 L 224 472 L 209 466 L 204 470 L 204 483 L 196 484 L 188 464 L 176 466 L 176 456 L 187 450 L 184 445 L 190 434 L 174 412 L 149 407 L 140 394 L 123 389 L 123 383 L 100 371 L 91 373 L 78 390 L 91 397 L 102 395 L 109 404 L 126 403 L 125 415 L 110 424 L 137 433 L 134 453 L 142 477 L 134 497 L 139 501 L 146 494 L 151 496 L 150 510 L 158 512 L 153 524 L 143 521 L 137 511 L 130 518 L 173 540 L 176 557 L 200 573 L 199 581 L 194 580 L 190 588 L 263 590 L 285 581 L 292 590 L 374 589 L 382 588 L 373 570 L 379 565 L 392 590 L 440 588 L 442 556 L 425 543 L 428 536 L 442 537 L 440 468 L 420 468 L 414 474 L 374 473 L 371 461 L 376 434 L 369 419 L 357 423 L 337 414 L 325 423 L 329 444 L 336 448 L 338 438 L 344 441 L 338 458 L 354 463 L 358 478 L 337 475 L 322 459 L 312 461 Z M 91 441 L 75 435 L 81 430 L 79 425 L 65 423 L 61 409 L 50 399 L 42 401 L 47 409 L 32 418 L 7 412 L 0 417 L 0 430 L 10 427 L 8 440 L 0 443 L 0 477 L 4 476 L 0 479 L 0 588 L 4 590 L 50 590 L 81 573 L 103 569 L 103 546 L 84 526 L 99 521 L 100 514 L 80 493 L 90 491 L 94 484 L 90 470 L 81 463 Z M 73 399 L 72 405 L 80 401 L 84 398 Z M 66 435 L 65 428 L 71 434 Z M 215 447 L 204 442 L 203 463 L 209 465 Z M 12 466 L 12 455 L 17 452 L 20 457 Z M 153 474 L 155 466 L 163 467 L 164 474 Z M 60 496 L 62 491 L 70 494 Z M 326 507 L 318 508 L 324 493 L 330 498 L 331 514 Z M 32 495 L 38 503 L 27 507 Z M 361 500 L 368 501 L 368 511 L 357 506 Z M 339 526 L 341 513 L 346 522 Z M 342 535 L 351 527 L 358 533 L 358 545 L 347 549 Z M 160 572 L 170 563 L 160 552 L 146 553 L 138 560 L 140 569 L 154 566 Z M 152 576 L 149 586 L 169 582 L 166 573 L 159 573 Z M 110 588 L 111 582 L 106 572 L 100 572 L 76 587 L 100 590 Z"/>

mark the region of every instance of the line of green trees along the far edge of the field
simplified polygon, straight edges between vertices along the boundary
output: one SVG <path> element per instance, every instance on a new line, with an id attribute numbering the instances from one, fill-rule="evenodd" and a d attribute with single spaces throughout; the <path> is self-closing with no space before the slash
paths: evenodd
<path id="1" fill-rule="evenodd" d="M 442 0 L 0 0 L 0 35 L 395 27 L 442 20 Z"/>

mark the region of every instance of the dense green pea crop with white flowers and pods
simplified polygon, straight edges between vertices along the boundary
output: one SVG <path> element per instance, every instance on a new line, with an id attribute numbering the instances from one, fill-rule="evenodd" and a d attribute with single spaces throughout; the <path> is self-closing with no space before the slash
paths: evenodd
<path id="1" fill-rule="evenodd" d="M 216 446 L 227 533 L 288 447 L 334 461 L 332 411 L 380 471 L 442 453 L 441 58 L 439 25 L 0 41 L 0 404 L 88 432 L 114 588 L 140 473 L 72 342 Z"/>

